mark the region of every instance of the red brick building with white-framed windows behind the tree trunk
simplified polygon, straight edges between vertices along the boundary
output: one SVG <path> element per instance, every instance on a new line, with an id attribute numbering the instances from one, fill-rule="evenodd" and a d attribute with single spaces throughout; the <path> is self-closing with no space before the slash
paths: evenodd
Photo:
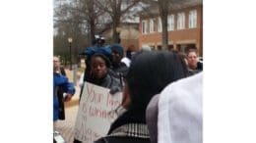
<path id="1" fill-rule="evenodd" d="M 140 16 L 139 47 L 150 46 L 161 49 L 161 20 L 158 7 L 153 7 L 150 15 Z M 168 50 L 186 52 L 190 48 L 203 56 L 203 3 L 194 0 L 172 7 L 167 19 Z"/>

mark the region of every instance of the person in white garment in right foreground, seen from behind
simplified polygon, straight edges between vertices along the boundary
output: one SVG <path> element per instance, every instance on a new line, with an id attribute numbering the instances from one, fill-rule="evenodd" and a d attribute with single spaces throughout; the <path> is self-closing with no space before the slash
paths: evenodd
<path id="1" fill-rule="evenodd" d="M 158 143 L 203 142 L 202 77 L 202 72 L 195 74 L 171 83 L 161 91 L 158 102 L 159 116 L 155 116 L 159 119 L 158 127 L 157 124 L 155 127 L 149 127 L 158 128 L 158 133 L 151 134 L 155 138 L 152 143 L 157 143 L 156 138 Z M 151 101 L 149 107 L 154 104 L 157 105 Z M 149 107 L 148 115 L 152 114 Z"/>

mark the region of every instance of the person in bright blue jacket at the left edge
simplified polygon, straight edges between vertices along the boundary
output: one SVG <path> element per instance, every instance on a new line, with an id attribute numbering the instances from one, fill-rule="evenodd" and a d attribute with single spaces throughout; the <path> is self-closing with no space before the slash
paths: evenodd
<path id="1" fill-rule="evenodd" d="M 73 95 L 75 94 L 75 86 L 73 83 L 68 81 L 68 78 L 64 75 L 62 75 L 59 71 L 56 69 L 59 67 L 59 59 L 54 58 L 53 59 L 53 121 L 54 121 L 54 128 L 56 121 L 60 119 L 60 112 L 62 113 L 60 109 L 60 102 L 68 102 L 71 100 Z M 61 90 L 65 93 L 65 97 L 58 99 L 57 97 L 57 91 L 61 88 Z M 61 95 L 63 96 L 63 94 Z M 61 100 L 61 101 L 59 101 Z"/>

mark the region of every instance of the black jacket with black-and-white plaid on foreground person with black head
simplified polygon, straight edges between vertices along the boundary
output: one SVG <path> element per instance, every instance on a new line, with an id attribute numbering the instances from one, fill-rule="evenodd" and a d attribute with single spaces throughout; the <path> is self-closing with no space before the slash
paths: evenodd
<path id="1" fill-rule="evenodd" d="M 112 124 L 107 136 L 95 143 L 150 143 L 145 111 L 128 110 Z"/>

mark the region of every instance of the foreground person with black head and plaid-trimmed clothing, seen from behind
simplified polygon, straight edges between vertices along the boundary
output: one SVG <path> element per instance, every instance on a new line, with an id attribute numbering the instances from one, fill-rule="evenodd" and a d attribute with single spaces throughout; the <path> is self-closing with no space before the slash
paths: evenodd
<path id="1" fill-rule="evenodd" d="M 96 143 L 150 143 L 146 108 L 152 97 L 169 83 L 186 76 L 180 57 L 171 52 L 142 52 L 126 75 L 122 106 L 127 111 Z"/>

